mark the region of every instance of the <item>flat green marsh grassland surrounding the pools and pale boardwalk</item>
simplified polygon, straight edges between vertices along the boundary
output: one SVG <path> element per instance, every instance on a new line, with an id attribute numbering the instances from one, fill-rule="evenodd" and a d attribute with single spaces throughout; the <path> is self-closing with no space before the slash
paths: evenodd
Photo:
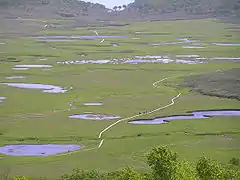
<path id="1" fill-rule="evenodd" d="M 239 43 L 236 25 L 216 20 L 133 23 L 129 26 L 95 27 L 99 35 L 129 36 L 127 39 L 77 40 L 74 42 L 37 42 L 27 36 L 1 39 L 0 82 L 56 85 L 69 89 L 49 94 L 41 90 L 18 89 L 0 85 L 0 145 L 5 144 L 79 144 L 83 149 L 59 156 L 14 157 L 0 155 L 0 169 L 10 175 L 57 178 L 73 168 L 110 171 L 131 165 L 145 170 L 143 154 L 155 145 L 169 145 L 182 158 L 195 161 L 203 153 L 222 163 L 239 154 L 239 117 L 213 117 L 174 121 L 162 125 L 132 125 L 121 122 L 103 134 L 99 149 L 98 134 L 116 120 L 90 121 L 70 119 L 73 114 L 92 112 L 120 117 L 133 116 L 171 103 L 175 104 L 141 118 L 184 114 L 208 109 L 238 109 L 235 99 L 209 97 L 192 92 L 179 84 L 185 77 L 239 68 L 239 61 L 205 60 L 207 64 L 57 64 L 58 61 L 131 58 L 145 55 L 200 55 L 204 58 L 240 57 L 239 47 L 214 46 L 212 43 Z M 92 30 L 92 28 L 90 29 Z M 88 28 L 46 30 L 37 35 L 95 35 Z M 145 32 L 139 34 L 135 32 Z M 155 32 L 162 32 L 156 34 Z M 184 49 L 185 44 L 145 46 L 191 38 L 203 49 Z M 118 43 L 113 47 L 111 43 Z M 203 43 L 203 44 L 201 44 Z M 187 46 L 189 44 L 186 44 Z M 189 58 L 183 58 L 189 59 Z M 48 71 L 30 68 L 14 71 L 16 64 L 45 64 Z M 24 79 L 6 79 L 24 76 Z M 153 83 L 160 82 L 156 87 Z M 234 81 L 233 81 L 234 82 Z M 72 87 L 72 88 L 71 88 Z M 69 111 L 69 102 L 74 108 Z M 85 106 L 102 102 L 102 106 Z M 141 134 L 141 136 L 139 136 Z"/>

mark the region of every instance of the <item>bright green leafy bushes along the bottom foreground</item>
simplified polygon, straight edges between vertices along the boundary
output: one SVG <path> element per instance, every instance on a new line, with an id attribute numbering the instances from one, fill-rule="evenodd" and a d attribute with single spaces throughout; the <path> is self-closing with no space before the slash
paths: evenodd
<path id="1" fill-rule="evenodd" d="M 62 180 L 237 180 L 240 178 L 239 159 L 233 158 L 229 165 L 221 165 L 217 161 L 201 157 L 196 165 L 179 159 L 177 153 L 166 146 L 153 148 L 147 154 L 148 172 L 139 173 L 131 167 L 122 170 L 101 173 L 96 170 L 85 171 L 75 169 L 65 174 Z M 28 180 L 25 176 L 14 177 L 13 180 Z"/>

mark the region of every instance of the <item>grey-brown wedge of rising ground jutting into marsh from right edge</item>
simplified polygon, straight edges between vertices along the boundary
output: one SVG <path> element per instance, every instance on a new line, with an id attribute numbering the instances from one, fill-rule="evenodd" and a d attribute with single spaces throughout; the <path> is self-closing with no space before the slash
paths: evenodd
<path id="1" fill-rule="evenodd" d="M 185 79 L 185 86 L 192 91 L 217 97 L 240 100 L 240 69 L 219 71 Z"/>

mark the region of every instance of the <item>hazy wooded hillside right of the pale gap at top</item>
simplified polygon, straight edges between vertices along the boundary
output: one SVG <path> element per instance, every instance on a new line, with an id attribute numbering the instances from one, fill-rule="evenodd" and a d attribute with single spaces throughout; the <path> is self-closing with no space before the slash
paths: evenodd
<path id="1" fill-rule="evenodd" d="M 135 0 L 128 8 L 148 15 L 240 16 L 240 0 Z"/>

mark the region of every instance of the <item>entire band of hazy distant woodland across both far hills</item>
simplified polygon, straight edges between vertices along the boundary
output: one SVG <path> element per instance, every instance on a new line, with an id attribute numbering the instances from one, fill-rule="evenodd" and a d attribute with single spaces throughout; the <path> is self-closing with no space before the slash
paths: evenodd
<path id="1" fill-rule="evenodd" d="M 129 5 L 116 5 L 114 7 L 115 12 L 112 13 L 106 13 L 107 9 L 104 5 L 78 0 L 0 0 L 0 10 L 6 7 L 19 8 L 19 6 L 27 6 L 24 11 L 43 6 L 45 12 L 55 14 L 57 12 L 63 17 L 93 14 L 101 16 L 104 14 L 108 18 L 116 16 L 139 18 L 142 17 L 141 15 L 145 15 L 145 18 L 150 18 L 152 15 L 161 18 L 169 14 L 176 18 L 178 16 L 188 17 L 189 15 L 210 17 L 240 16 L 240 0 L 135 0 L 134 3 Z M 119 12 L 117 10 L 123 11 Z M 34 13 L 34 11 L 31 13 Z"/>

